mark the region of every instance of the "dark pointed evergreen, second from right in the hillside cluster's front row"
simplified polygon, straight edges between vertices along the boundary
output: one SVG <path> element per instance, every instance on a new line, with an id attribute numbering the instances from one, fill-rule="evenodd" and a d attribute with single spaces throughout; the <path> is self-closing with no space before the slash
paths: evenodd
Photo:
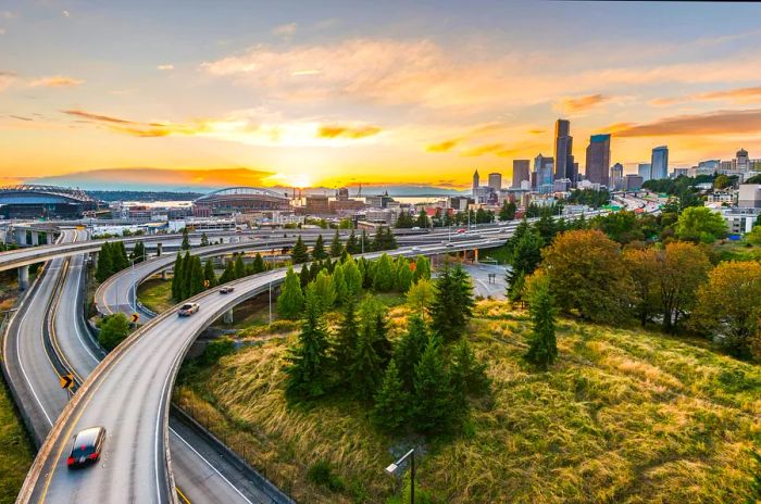
<path id="1" fill-rule="evenodd" d="M 415 366 L 414 426 L 424 433 L 451 430 L 461 408 L 452 400 L 449 374 L 438 338 L 431 338 Z"/>

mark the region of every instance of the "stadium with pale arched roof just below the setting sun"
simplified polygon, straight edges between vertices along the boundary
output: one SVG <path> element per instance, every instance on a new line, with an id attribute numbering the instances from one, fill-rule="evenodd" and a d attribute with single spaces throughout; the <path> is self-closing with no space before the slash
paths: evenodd
<path id="1" fill-rule="evenodd" d="M 290 210 L 285 193 L 257 187 L 228 187 L 198 198 L 192 203 L 194 215 L 211 217 L 238 213 Z"/>

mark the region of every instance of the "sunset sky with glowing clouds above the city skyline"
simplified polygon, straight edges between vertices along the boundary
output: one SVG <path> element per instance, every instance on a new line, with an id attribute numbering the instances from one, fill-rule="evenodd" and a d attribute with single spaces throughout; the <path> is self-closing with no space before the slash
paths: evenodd
<path id="1" fill-rule="evenodd" d="M 598 133 L 628 173 L 661 144 L 672 167 L 761 158 L 759 20 L 744 3 L 2 0 L 0 185 L 461 188 L 552 155 L 559 117 L 582 171 Z"/>

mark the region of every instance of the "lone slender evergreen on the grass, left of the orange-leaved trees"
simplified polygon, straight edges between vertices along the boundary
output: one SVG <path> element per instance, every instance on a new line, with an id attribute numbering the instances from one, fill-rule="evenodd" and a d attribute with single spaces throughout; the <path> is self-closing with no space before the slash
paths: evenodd
<path id="1" fill-rule="evenodd" d="M 539 272 L 528 281 L 528 312 L 532 316 L 532 333 L 528 338 L 526 360 L 547 369 L 558 358 L 554 336 L 557 308 L 550 290 L 550 278 Z"/>

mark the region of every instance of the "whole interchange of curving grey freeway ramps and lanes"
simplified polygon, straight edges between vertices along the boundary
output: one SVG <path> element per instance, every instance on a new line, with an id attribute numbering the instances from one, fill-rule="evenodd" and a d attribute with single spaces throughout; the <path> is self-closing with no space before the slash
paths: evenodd
<path id="1" fill-rule="evenodd" d="M 457 241 L 450 241 L 446 229 L 399 237 L 400 248 L 387 253 L 437 255 L 492 248 L 503 243 L 516 226 L 517 222 L 483 226 Z M 272 235 L 247 238 L 199 248 L 194 253 L 212 256 L 265 251 L 295 241 Z M 234 464 L 219 462 L 219 450 L 170 415 L 177 370 L 198 335 L 235 305 L 277 286 L 285 270 L 236 280 L 232 282 L 234 293 L 225 297 L 216 290 L 198 294 L 190 300 L 200 303 L 198 314 L 178 317 L 175 306 L 104 355 L 83 315 L 85 253 L 99 250 L 102 241 L 83 239 L 87 240 L 85 231 L 65 230 L 60 243 L 0 254 L 1 269 L 47 260 L 43 274 L 10 324 L 3 349 L 4 370 L 40 444 L 17 502 L 288 502 L 287 496 Z M 378 255 L 365 254 L 371 259 Z M 163 255 L 110 278 L 96 294 L 99 311 L 138 310 L 134 297 L 137 285 L 171 268 L 173 262 L 173 254 Z M 148 319 L 150 315 L 144 316 Z M 68 400 L 57 387 L 58 376 L 66 371 L 73 373 L 78 383 Z M 108 431 L 97 469 L 66 470 L 72 436 L 91 426 L 104 426 Z"/>

